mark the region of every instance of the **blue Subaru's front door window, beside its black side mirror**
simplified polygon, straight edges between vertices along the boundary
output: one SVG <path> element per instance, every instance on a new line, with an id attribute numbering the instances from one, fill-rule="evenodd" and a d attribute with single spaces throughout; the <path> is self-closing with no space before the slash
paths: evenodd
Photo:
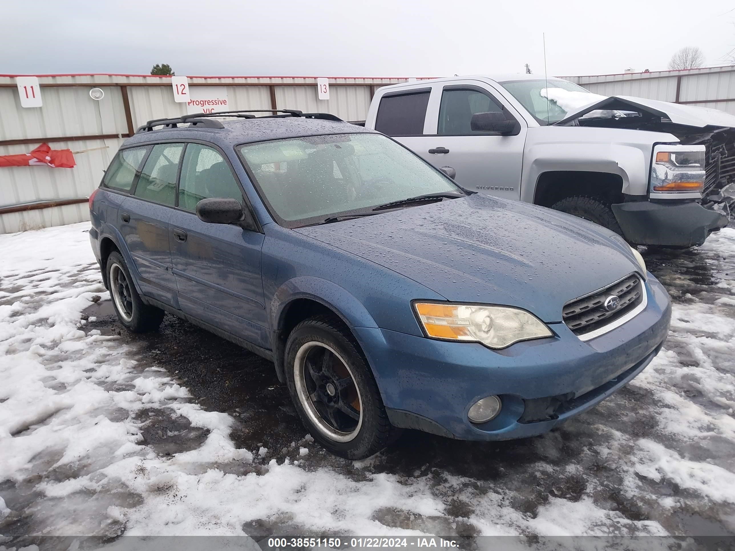
<path id="1" fill-rule="evenodd" d="M 214 197 L 243 201 L 240 186 L 222 155 L 207 145 L 190 143 L 179 177 L 179 207 L 196 212 L 199 201 Z"/>

